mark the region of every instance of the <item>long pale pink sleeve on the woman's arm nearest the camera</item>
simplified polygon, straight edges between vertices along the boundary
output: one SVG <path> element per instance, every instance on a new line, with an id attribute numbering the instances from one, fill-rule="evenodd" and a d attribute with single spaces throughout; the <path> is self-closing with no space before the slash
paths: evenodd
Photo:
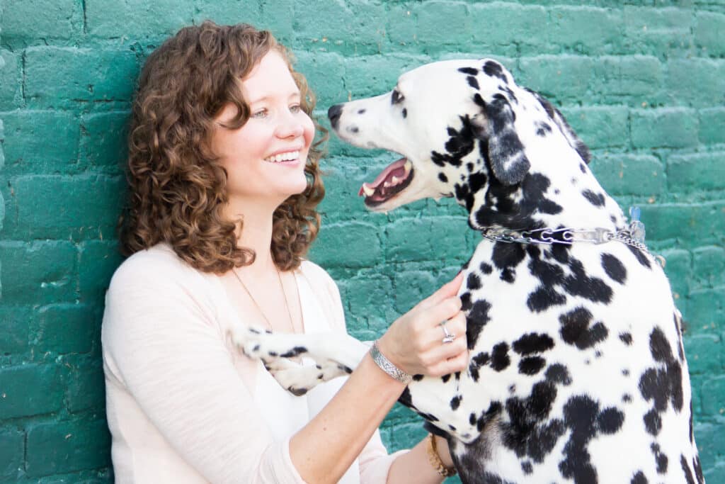
<path id="1" fill-rule="evenodd" d="M 107 366 L 206 480 L 304 483 L 236 372 L 207 283 L 178 261 L 126 261 L 107 292 Z"/>

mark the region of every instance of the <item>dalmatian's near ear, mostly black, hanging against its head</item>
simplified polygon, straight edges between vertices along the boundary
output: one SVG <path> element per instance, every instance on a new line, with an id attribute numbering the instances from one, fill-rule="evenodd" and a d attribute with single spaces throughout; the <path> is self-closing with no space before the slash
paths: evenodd
<path id="1" fill-rule="evenodd" d="M 492 102 L 483 102 L 485 120 L 474 120 L 476 136 L 489 144 L 489 159 L 494 176 L 505 185 L 521 183 L 531 163 L 516 134 L 515 114 L 508 99 L 496 94 Z M 484 126 L 485 123 L 485 126 Z"/>

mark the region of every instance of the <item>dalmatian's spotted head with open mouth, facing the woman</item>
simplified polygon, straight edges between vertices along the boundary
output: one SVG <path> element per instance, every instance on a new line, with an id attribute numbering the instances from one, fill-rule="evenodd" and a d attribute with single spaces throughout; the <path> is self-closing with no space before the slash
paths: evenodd
<path id="1" fill-rule="evenodd" d="M 402 155 L 360 189 L 376 211 L 426 197 L 456 197 L 471 210 L 494 185 L 513 195 L 531 171 L 527 145 L 553 131 L 574 163 L 589 158 L 560 113 L 494 60 L 423 65 L 389 93 L 338 104 L 328 116 L 341 139 Z"/>

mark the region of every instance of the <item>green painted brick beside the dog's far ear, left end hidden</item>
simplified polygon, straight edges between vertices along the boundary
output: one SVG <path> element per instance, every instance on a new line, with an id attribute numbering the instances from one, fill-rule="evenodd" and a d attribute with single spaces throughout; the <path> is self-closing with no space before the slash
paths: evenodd
<path id="1" fill-rule="evenodd" d="M 624 106 L 570 107 L 561 110 L 592 149 L 629 144 L 629 109 Z"/>

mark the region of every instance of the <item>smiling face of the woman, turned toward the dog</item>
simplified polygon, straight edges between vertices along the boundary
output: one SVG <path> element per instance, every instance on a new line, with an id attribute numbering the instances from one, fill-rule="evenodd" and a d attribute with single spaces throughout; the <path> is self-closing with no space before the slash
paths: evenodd
<path id="1" fill-rule="evenodd" d="M 230 202 L 281 204 L 307 186 L 305 162 L 315 126 L 300 107 L 300 94 L 281 54 L 271 51 L 241 81 L 250 116 L 239 129 L 217 126 L 212 149 L 228 174 Z M 232 104 L 217 117 L 236 114 Z"/>

